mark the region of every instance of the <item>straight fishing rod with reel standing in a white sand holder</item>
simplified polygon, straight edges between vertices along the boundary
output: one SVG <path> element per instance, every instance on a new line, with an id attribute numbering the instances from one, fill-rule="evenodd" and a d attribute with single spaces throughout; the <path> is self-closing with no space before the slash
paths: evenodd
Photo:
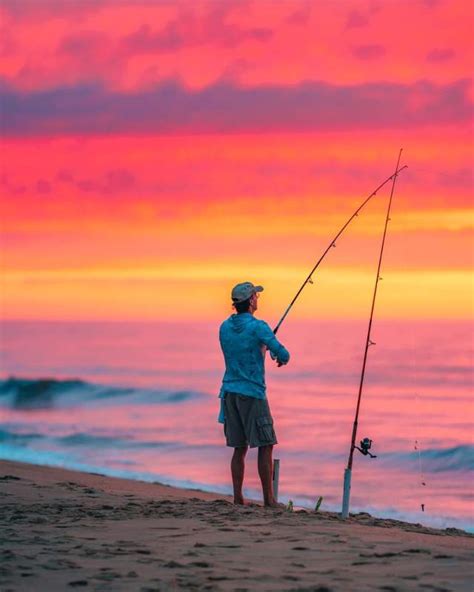
<path id="1" fill-rule="evenodd" d="M 403 150 L 403 148 L 400 148 L 400 152 L 398 153 L 397 166 L 395 167 L 395 173 L 391 177 L 392 178 L 392 190 L 390 192 L 390 199 L 388 202 L 387 215 L 385 217 L 385 226 L 384 226 L 384 231 L 383 231 L 383 236 L 382 236 L 382 244 L 380 246 L 379 262 L 378 262 L 378 266 L 377 266 L 377 274 L 376 274 L 376 279 L 375 279 L 374 293 L 372 296 L 372 307 L 370 309 L 369 327 L 367 330 L 367 339 L 365 341 L 364 360 L 362 362 L 362 371 L 361 371 L 360 383 L 359 383 L 359 394 L 357 396 L 356 412 L 355 412 L 354 424 L 352 426 L 351 448 L 349 451 L 349 459 L 347 461 L 347 468 L 344 471 L 344 489 L 343 489 L 343 496 L 342 496 L 342 511 L 341 511 L 342 518 L 347 518 L 349 516 L 349 499 L 350 499 L 350 493 L 351 493 L 352 463 L 354 460 L 354 450 L 356 450 L 356 449 L 359 450 L 360 452 L 362 452 L 362 454 L 364 456 L 366 456 L 367 454 L 370 455 L 372 458 L 374 456 L 373 454 L 371 454 L 369 452 L 369 449 L 372 446 L 372 440 L 370 440 L 369 438 L 364 438 L 360 443 L 360 448 L 358 446 L 356 446 L 355 442 L 356 442 L 356 438 L 357 438 L 357 426 L 359 423 L 360 402 L 362 399 L 362 389 L 364 387 L 367 356 L 369 353 L 369 347 L 371 345 L 375 345 L 375 343 L 371 339 L 372 321 L 374 318 L 375 300 L 377 298 L 377 288 L 379 285 L 379 281 L 382 279 L 380 277 L 380 269 L 382 267 L 382 258 L 383 258 L 383 251 L 384 251 L 384 247 L 385 247 L 385 238 L 387 236 L 387 228 L 388 228 L 388 223 L 390 221 L 390 210 L 392 208 L 392 199 L 393 199 L 393 194 L 395 191 L 395 183 L 396 183 L 398 174 L 401 170 L 403 170 L 403 168 L 405 168 L 405 167 L 402 167 L 401 169 L 398 168 L 400 166 L 400 158 L 402 156 L 402 150 Z"/>

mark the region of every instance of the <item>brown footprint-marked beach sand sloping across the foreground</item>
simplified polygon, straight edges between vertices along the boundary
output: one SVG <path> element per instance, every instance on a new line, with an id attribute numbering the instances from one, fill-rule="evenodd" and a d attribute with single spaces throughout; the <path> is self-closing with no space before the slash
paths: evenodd
<path id="1" fill-rule="evenodd" d="M 0 461 L 0 590 L 473 589 L 474 537 Z"/>

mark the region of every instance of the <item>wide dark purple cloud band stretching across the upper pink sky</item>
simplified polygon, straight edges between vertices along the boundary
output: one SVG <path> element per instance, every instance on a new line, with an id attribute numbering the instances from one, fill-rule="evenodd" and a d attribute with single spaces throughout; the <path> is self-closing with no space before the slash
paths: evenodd
<path id="1" fill-rule="evenodd" d="M 100 85 L 22 92 L 3 84 L 6 136 L 117 133 L 305 132 L 407 128 L 470 121 L 469 81 L 239 87 L 199 91 L 167 81 L 135 92 Z"/>

